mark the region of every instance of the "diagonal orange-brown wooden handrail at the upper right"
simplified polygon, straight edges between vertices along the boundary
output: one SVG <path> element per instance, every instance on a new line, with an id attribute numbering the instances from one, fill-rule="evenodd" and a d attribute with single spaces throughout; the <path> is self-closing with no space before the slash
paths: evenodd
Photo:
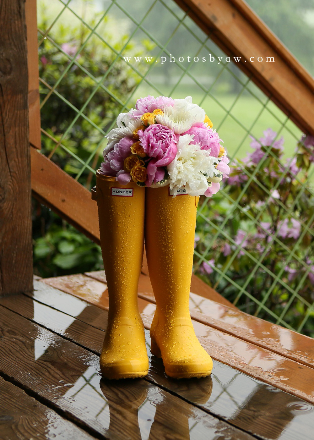
<path id="1" fill-rule="evenodd" d="M 313 78 L 243 0 L 175 1 L 227 56 L 241 57 L 237 67 L 303 132 L 314 135 Z"/>

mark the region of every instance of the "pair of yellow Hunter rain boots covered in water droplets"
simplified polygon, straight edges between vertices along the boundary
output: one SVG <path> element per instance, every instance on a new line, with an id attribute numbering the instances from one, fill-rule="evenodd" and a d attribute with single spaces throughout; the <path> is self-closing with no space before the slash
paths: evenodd
<path id="1" fill-rule="evenodd" d="M 151 352 L 172 378 L 205 377 L 212 359 L 197 340 L 189 312 L 197 198 L 169 194 L 169 187 L 120 185 L 97 172 L 96 192 L 109 315 L 100 356 L 108 379 L 148 373 L 145 333 L 137 293 L 144 235 L 157 309 Z"/>

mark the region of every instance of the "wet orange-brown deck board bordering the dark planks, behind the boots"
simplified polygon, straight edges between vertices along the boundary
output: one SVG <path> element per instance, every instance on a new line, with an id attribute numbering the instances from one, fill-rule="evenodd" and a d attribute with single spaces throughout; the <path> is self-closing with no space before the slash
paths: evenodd
<path id="1" fill-rule="evenodd" d="M 43 279 L 38 283 L 45 282 L 107 310 L 106 290 L 102 291 L 100 296 L 96 294 L 93 299 L 92 292 L 95 291 L 97 284 L 95 280 L 90 282 L 87 278 L 83 275 L 69 275 Z M 102 287 L 98 286 L 97 289 L 101 292 Z M 150 329 L 155 307 L 154 304 L 141 298 L 139 309 L 146 329 Z M 198 321 L 194 321 L 194 329 L 199 341 L 213 359 L 314 403 L 314 369 L 312 367 Z"/>

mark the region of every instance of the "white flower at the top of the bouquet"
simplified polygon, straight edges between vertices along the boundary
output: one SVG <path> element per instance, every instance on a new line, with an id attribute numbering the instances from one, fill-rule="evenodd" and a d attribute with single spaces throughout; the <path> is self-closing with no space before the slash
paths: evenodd
<path id="1" fill-rule="evenodd" d="M 166 107 L 163 115 L 156 116 L 158 124 L 169 127 L 176 134 L 182 134 L 189 130 L 193 124 L 204 121 L 204 110 L 197 104 L 192 104 L 190 96 L 187 96 L 186 99 L 174 99 L 174 101 L 173 107 Z"/>

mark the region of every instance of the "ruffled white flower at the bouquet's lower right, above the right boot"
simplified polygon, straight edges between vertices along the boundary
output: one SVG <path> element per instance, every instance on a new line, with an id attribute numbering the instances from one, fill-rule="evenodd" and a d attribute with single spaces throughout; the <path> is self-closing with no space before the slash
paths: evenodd
<path id="1" fill-rule="evenodd" d="M 208 188 L 208 177 L 217 176 L 215 164 L 218 158 L 209 155 L 208 151 L 201 150 L 198 144 L 190 145 L 194 136 L 179 137 L 178 153 L 175 159 L 167 166 L 172 195 L 176 195 L 181 187 L 192 196 L 205 193 Z"/>

